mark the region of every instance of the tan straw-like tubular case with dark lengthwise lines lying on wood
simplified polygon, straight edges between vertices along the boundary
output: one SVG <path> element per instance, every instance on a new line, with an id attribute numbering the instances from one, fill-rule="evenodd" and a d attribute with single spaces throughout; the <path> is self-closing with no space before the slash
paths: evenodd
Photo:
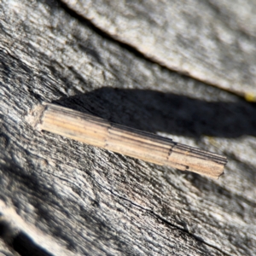
<path id="1" fill-rule="evenodd" d="M 34 108 L 30 123 L 40 131 L 50 131 L 157 165 L 208 177 L 218 178 L 227 163 L 222 155 L 54 104 L 44 103 Z"/>

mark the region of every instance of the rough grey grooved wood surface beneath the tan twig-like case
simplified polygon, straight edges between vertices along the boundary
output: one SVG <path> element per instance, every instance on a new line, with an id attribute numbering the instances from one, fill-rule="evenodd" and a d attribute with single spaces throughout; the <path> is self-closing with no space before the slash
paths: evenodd
<path id="1" fill-rule="evenodd" d="M 61 3 L 0 4 L 0 253 L 255 253 L 252 103 L 146 60 Z M 25 117 L 43 101 L 224 154 L 225 175 L 34 131 Z"/>

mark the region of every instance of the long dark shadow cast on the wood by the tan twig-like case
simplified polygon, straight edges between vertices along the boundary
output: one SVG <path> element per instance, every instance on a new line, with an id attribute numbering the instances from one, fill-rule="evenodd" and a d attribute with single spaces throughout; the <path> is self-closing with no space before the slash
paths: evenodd
<path id="1" fill-rule="evenodd" d="M 248 102 L 205 102 L 155 90 L 101 88 L 55 103 L 120 125 L 185 137 L 256 136 L 256 108 Z"/>

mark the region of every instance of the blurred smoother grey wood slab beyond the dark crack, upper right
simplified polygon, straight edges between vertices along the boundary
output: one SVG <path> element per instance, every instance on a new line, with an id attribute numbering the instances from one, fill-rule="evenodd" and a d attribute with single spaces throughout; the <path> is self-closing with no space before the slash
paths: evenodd
<path id="1" fill-rule="evenodd" d="M 149 59 L 256 101 L 253 0 L 61 0 Z"/>

